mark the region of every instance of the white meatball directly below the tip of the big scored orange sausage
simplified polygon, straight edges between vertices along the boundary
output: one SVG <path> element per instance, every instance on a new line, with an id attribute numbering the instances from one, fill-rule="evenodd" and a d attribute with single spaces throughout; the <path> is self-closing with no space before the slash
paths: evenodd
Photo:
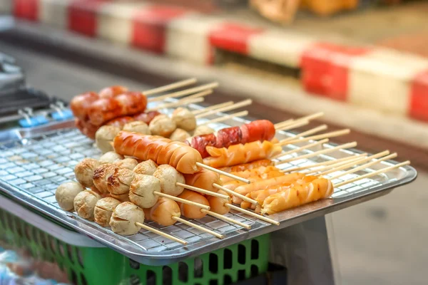
<path id="1" fill-rule="evenodd" d="M 184 188 L 176 185 L 176 182 L 185 184 L 184 176 L 170 165 L 159 165 L 153 176 L 161 181 L 161 190 L 165 194 L 178 196 Z"/>

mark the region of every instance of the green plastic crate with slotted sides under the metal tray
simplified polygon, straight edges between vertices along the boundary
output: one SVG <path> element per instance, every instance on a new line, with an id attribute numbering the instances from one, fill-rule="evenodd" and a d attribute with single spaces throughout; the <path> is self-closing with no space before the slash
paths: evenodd
<path id="1" fill-rule="evenodd" d="M 168 266 L 147 266 L 106 247 L 76 247 L 0 209 L 0 240 L 55 261 L 74 284 L 232 284 L 267 271 L 269 235 Z"/>

